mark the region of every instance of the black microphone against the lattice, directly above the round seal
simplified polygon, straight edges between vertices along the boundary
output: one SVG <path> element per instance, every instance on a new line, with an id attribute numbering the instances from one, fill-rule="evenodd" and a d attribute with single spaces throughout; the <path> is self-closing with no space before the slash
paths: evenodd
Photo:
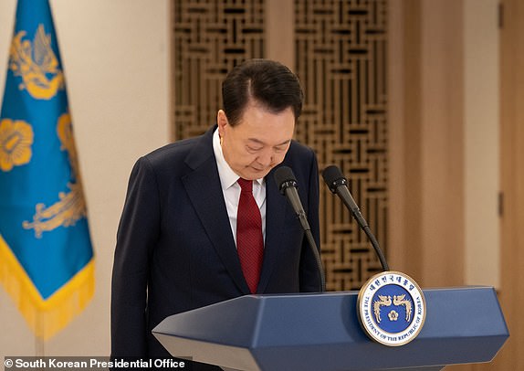
<path id="1" fill-rule="evenodd" d="M 348 188 L 348 180 L 344 177 L 344 175 L 342 175 L 341 169 L 335 165 L 330 165 L 324 169 L 322 172 L 322 177 L 324 178 L 326 185 L 328 185 L 330 188 L 330 191 L 333 194 L 337 194 L 337 196 L 341 197 L 342 202 L 350 209 L 351 215 L 355 218 L 359 224 L 359 227 L 362 228 L 362 230 L 366 233 L 366 236 L 370 239 L 372 247 L 375 249 L 378 258 L 381 261 L 383 270 L 389 270 L 383 250 L 380 248 L 377 238 L 373 236 L 371 228 L 368 226 L 366 219 L 362 217 L 361 210 L 351 196 L 350 189 Z"/>

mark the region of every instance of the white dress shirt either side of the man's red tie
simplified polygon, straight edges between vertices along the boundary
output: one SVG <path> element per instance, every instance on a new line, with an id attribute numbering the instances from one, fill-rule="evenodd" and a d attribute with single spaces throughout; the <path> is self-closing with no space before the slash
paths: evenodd
<path id="1" fill-rule="evenodd" d="M 236 245 L 236 211 L 238 210 L 238 199 L 240 198 L 240 185 L 236 183 L 239 176 L 227 164 L 222 152 L 222 145 L 220 145 L 220 136 L 218 129 L 213 133 L 213 151 L 215 152 L 216 166 L 218 167 L 218 175 L 220 176 L 220 184 L 222 185 L 222 193 L 224 194 L 225 207 L 227 207 L 227 216 L 229 217 L 229 224 L 235 238 Z M 262 217 L 262 236 L 266 241 L 266 181 L 264 178 L 257 179 L 253 182 L 253 196 L 260 209 L 260 216 Z"/>

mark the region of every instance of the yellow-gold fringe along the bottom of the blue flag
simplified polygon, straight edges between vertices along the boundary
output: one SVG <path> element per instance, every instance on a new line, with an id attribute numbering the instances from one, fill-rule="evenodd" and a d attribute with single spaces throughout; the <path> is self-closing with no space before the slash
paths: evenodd
<path id="1" fill-rule="evenodd" d="M 44 300 L 0 235 L 0 283 L 35 336 L 48 340 L 66 327 L 90 302 L 95 291 L 94 258 Z"/>

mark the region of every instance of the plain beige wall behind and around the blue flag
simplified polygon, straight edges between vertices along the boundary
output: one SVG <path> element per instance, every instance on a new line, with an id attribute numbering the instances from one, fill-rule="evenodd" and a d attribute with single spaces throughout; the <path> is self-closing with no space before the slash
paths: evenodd
<path id="1" fill-rule="evenodd" d="M 51 0 L 96 254 L 97 287 L 46 355 L 109 355 L 110 274 L 131 166 L 169 141 L 169 1 Z M 16 0 L 0 2 L 0 89 Z M 0 290 L 0 357 L 35 355 L 35 341 Z"/>

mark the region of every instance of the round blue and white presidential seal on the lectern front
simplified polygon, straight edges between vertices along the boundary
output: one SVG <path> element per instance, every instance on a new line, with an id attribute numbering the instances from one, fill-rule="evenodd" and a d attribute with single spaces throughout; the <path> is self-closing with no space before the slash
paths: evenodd
<path id="1" fill-rule="evenodd" d="M 408 344 L 424 326 L 424 292 L 411 277 L 398 271 L 384 271 L 367 281 L 359 292 L 357 307 L 364 332 L 383 345 Z"/>

